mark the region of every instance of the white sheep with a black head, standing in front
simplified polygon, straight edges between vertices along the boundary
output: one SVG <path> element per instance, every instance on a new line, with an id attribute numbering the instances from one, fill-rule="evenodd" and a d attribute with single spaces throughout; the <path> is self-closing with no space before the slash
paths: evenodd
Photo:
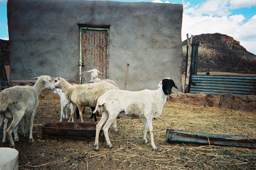
<path id="1" fill-rule="evenodd" d="M 108 147 L 113 147 L 108 137 L 108 129 L 118 116 L 125 119 L 144 118 L 144 144 L 148 143 L 147 130 L 149 128 L 151 146 L 154 151 L 158 151 L 154 143 L 152 119 L 161 115 L 164 103 L 166 102 L 166 95 L 171 94 L 172 87 L 177 88 L 177 86 L 172 79 L 164 78 L 159 83 L 158 87 L 157 90 L 146 89 L 138 92 L 114 89 L 100 96 L 96 108 L 93 111 L 93 113 L 95 113 L 99 109 L 99 106 L 102 106 L 102 116 L 100 122 L 96 125 L 94 150 L 99 151 L 99 133 L 105 122 L 102 128 L 103 133 Z"/>

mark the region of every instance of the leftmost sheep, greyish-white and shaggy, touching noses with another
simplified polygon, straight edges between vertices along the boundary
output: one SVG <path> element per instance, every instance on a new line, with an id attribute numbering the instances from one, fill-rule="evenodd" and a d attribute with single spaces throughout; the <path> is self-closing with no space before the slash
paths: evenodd
<path id="1" fill-rule="evenodd" d="M 34 142 L 32 129 L 33 121 L 38 106 L 38 96 L 45 88 L 54 89 L 54 84 L 50 76 L 40 76 L 35 85 L 14 86 L 4 89 L 0 93 L 0 127 L 4 118 L 12 119 L 12 123 L 6 130 L 6 135 L 10 141 L 10 147 L 14 148 L 12 131 L 25 116 L 30 116 L 29 142 Z"/>

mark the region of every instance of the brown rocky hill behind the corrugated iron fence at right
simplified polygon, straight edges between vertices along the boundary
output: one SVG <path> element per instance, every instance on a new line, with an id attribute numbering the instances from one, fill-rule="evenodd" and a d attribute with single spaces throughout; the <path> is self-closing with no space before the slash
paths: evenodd
<path id="1" fill-rule="evenodd" d="M 199 43 L 197 72 L 231 72 L 256 74 L 256 55 L 248 52 L 239 41 L 220 34 L 194 36 Z M 185 72 L 187 40 L 182 42 L 182 72 Z"/>

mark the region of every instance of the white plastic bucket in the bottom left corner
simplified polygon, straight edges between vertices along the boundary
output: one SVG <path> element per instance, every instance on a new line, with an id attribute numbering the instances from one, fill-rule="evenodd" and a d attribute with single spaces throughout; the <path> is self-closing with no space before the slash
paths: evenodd
<path id="1" fill-rule="evenodd" d="M 19 152 L 12 148 L 0 148 L 0 170 L 18 170 Z"/>

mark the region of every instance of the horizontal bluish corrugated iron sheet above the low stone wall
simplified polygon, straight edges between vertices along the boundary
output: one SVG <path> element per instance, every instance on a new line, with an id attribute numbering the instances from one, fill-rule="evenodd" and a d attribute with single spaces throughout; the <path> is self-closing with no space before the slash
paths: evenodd
<path id="1" fill-rule="evenodd" d="M 196 85 L 191 84 L 190 93 L 256 95 L 256 77 L 192 75 L 191 81 Z"/>

